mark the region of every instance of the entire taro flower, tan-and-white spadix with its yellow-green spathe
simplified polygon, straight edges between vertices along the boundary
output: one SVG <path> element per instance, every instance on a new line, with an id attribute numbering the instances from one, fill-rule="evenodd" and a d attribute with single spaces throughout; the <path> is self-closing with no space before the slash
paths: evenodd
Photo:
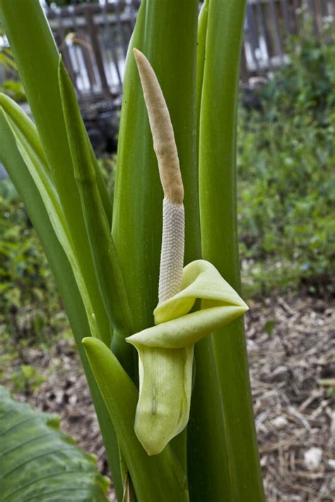
<path id="1" fill-rule="evenodd" d="M 164 201 L 155 326 L 127 337 L 127 342 L 139 352 L 136 436 L 148 455 L 157 455 L 187 425 L 194 344 L 248 307 L 208 261 L 193 261 L 183 269 L 184 189 L 170 115 L 153 68 L 141 52 L 134 49 L 134 54 Z M 192 311 L 196 299 L 200 309 Z"/>

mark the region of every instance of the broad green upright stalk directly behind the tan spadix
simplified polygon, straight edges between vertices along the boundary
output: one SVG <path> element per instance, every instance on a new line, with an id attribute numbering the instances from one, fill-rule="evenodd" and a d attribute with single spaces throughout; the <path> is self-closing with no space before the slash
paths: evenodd
<path id="1" fill-rule="evenodd" d="M 200 257 L 195 127 L 196 0 L 143 0 L 131 40 L 158 76 L 175 132 L 184 181 L 185 261 Z M 136 331 L 153 325 L 158 303 L 163 191 L 132 51 L 124 77 L 112 235 Z M 131 229 L 131 232 L 129 232 Z M 131 263 L 131 267 L 129 266 Z M 174 441 L 185 466 L 186 433 Z"/>

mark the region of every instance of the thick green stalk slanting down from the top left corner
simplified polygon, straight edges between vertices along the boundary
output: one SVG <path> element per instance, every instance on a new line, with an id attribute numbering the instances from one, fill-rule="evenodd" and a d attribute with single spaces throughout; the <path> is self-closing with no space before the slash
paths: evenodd
<path id="1" fill-rule="evenodd" d="M 11 44 L 72 239 L 76 249 L 81 250 L 78 261 L 86 284 L 90 285 L 100 336 L 109 343 L 110 327 L 90 256 L 61 109 L 57 47 L 39 0 L 0 0 L 0 19 Z M 97 179 L 100 180 L 105 208 L 111 216 L 111 204 L 99 172 Z"/>

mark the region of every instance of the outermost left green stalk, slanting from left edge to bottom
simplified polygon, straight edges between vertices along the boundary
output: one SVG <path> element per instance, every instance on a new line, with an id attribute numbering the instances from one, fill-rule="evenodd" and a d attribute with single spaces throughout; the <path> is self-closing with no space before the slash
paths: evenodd
<path id="1" fill-rule="evenodd" d="M 33 222 L 34 228 L 40 238 L 43 249 L 47 255 L 47 259 L 51 265 L 52 272 L 54 273 L 59 293 L 61 294 L 61 298 L 64 302 L 66 313 L 69 316 L 71 329 L 74 333 L 83 369 L 86 373 L 86 378 L 90 387 L 90 393 L 98 415 L 102 438 L 106 446 L 107 458 L 110 462 L 112 470 L 114 488 L 117 491 L 119 500 L 121 500 L 122 481 L 119 470 L 117 438 L 114 433 L 110 416 L 105 407 L 105 402 L 102 400 L 98 386 L 96 385 L 95 379 L 90 371 L 86 353 L 83 349 L 83 344 L 81 343 L 83 335 L 85 333 L 89 333 L 89 326 L 86 312 L 83 307 L 83 301 L 78 291 L 76 281 L 74 280 L 74 275 L 69 265 L 69 261 L 66 258 L 64 250 L 59 244 L 59 240 L 54 233 L 54 229 L 52 228 L 49 215 L 45 210 L 45 205 L 42 202 L 40 193 L 38 192 L 35 182 L 30 176 L 25 163 L 20 157 L 11 128 L 1 110 L 0 138 L 0 160 L 5 165 L 13 184 L 16 186 L 16 189 L 23 200 L 30 220 Z"/>

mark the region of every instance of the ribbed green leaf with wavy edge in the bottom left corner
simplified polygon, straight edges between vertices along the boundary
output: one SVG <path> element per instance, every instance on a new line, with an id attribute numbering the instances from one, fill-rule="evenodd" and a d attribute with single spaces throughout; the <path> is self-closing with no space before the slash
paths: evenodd
<path id="1" fill-rule="evenodd" d="M 95 455 L 59 431 L 59 417 L 36 412 L 0 386 L 1 501 L 107 502 L 108 479 Z"/>

